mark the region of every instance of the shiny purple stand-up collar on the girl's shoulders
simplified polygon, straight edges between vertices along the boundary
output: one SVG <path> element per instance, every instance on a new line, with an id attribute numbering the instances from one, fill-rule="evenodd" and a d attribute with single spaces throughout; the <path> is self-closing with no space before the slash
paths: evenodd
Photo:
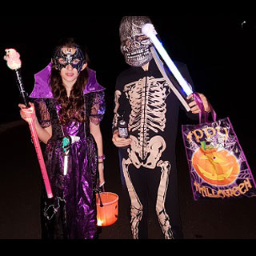
<path id="1" fill-rule="evenodd" d="M 54 95 L 50 89 L 50 73 L 51 73 L 52 63 L 50 63 L 46 68 L 40 71 L 38 74 L 34 75 L 34 90 L 30 94 L 30 98 L 54 98 Z M 96 72 L 94 70 L 88 69 L 89 78 L 84 90 L 84 94 L 90 94 L 92 92 L 99 92 L 105 90 L 104 87 L 100 86 L 97 82 Z"/>

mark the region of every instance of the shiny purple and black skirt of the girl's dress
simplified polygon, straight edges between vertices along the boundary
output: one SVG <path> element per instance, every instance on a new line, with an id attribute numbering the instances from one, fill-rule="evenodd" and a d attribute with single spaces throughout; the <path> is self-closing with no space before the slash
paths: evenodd
<path id="1" fill-rule="evenodd" d="M 46 221 L 50 238 L 93 239 L 97 234 L 96 202 L 90 173 L 92 166 L 97 166 L 97 156 L 88 154 L 88 146 L 90 152 L 96 152 L 91 137 L 72 144 L 66 176 L 63 175 L 62 140 L 50 141 L 46 146 L 46 168 L 54 193 L 54 200 L 47 207 L 52 206 L 55 210 L 54 218 Z M 50 217 L 46 209 L 44 214 Z"/>

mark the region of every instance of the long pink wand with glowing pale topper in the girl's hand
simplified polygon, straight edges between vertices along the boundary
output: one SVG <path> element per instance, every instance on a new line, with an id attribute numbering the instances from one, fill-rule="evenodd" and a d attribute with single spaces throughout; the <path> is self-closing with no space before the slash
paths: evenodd
<path id="1" fill-rule="evenodd" d="M 21 67 L 22 67 L 22 62 L 20 60 L 20 54 L 14 49 L 7 49 L 6 50 L 6 56 L 4 59 L 7 62 L 7 66 L 10 68 L 10 70 L 14 70 L 15 74 L 17 76 L 17 85 L 18 89 L 20 91 L 20 94 L 22 96 L 22 100 L 24 104 L 27 107 L 27 110 L 33 112 L 33 109 L 30 107 L 29 101 L 28 101 L 28 96 L 26 94 L 26 91 L 24 90 L 23 82 L 22 82 L 22 76 L 21 76 Z M 46 186 L 46 193 L 48 198 L 53 198 L 54 195 L 52 193 L 51 187 L 50 187 L 50 181 L 48 178 L 47 170 L 46 170 L 46 164 L 44 162 L 43 156 L 42 156 L 42 150 L 40 146 L 40 142 L 38 139 L 38 134 L 36 132 L 35 126 L 34 126 L 34 120 L 33 118 L 28 119 L 28 123 L 30 126 L 30 132 L 31 132 L 31 137 L 34 142 L 34 147 L 38 156 L 38 162 L 41 168 L 42 172 L 42 179 L 43 182 Z"/>

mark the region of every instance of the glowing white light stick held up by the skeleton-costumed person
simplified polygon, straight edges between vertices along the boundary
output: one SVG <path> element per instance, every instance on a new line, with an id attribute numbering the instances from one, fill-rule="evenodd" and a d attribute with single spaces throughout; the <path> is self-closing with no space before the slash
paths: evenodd
<path id="1" fill-rule="evenodd" d="M 156 30 L 154 30 L 154 26 L 150 23 L 145 24 L 142 27 L 142 33 L 146 34 L 148 38 L 151 39 L 151 42 L 154 44 L 154 47 L 158 50 L 158 53 L 161 55 L 166 65 L 169 67 L 171 73 L 174 75 L 174 78 L 177 79 L 180 86 L 186 93 L 187 96 L 193 94 L 193 90 L 191 90 L 188 82 L 182 77 L 182 74 L 179 72 L 178 68 L 175 66 L 174 62 L 171 60 L 170 56 L 167 54 L 165 48 L 162 46 L 162 43 L 156 37 Z"/>

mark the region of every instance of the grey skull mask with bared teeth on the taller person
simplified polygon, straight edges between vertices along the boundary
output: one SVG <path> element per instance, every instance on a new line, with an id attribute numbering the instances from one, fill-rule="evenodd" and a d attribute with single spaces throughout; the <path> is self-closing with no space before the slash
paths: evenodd
<path id="1" fill-rule="evenodd" d="M 152 23 L 146 16 L 125 16 L 120 25 L 121 51 L 130 66 L 143 66 L 153 58 L 150 38 L 142 34 L 142 26 Z"/>

